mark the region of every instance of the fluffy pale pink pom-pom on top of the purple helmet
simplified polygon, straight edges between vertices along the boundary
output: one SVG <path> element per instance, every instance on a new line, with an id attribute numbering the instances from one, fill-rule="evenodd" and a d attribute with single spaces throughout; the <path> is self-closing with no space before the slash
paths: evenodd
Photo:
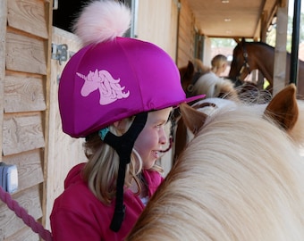
<path id="1" fill-rule="evenodd" d="M 113 0 L 97 0 L 84 7 L 73 29 L 87 46 L 122 37 L 130 24 L 131 11 L 127 6 Z"/>

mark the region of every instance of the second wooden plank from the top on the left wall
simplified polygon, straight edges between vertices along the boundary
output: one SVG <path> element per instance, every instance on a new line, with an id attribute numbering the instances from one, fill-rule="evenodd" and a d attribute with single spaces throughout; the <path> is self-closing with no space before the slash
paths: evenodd
<path id="1" fill-rule="evenodd" d="M 6 69 L 46 75 L 46 50 L 42 40 L 6 34 Z"/>

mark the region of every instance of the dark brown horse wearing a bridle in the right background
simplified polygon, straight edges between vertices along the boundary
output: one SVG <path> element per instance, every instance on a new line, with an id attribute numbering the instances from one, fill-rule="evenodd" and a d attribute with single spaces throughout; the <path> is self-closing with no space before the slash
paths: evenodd
<path id="1" fill-rule="evenodd" d="M 286 76 L 289 79 L 291 69 L 291 54 L 287 53 Z M 274 86 L 274 47 L 263 42 L 246 42 L 244 39 L 234 47 L 229 79 L 243 81 L 251 71 L 261 71 L 269 81 L 267 89 Z M 304 62 L 299 60 L 298 98 L 304 97 Z"/>

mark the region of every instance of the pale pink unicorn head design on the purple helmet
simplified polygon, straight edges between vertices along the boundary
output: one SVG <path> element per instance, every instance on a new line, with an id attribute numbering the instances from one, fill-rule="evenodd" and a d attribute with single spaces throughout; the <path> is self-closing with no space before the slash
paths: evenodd
<path id="1" fill-rule="evenodd" d="M 99 104 L 111 104 L 114 101 L 130 96 L 130 91 L 122 92 L 124 87 L 119 84 L 120 79 L 114 79 L 108 71 L 89 71 L 88 76 L 76 73 L 81 79 L 86 80 L 81 87 L 81 96 L 89 96 L 99 90 Z"/>

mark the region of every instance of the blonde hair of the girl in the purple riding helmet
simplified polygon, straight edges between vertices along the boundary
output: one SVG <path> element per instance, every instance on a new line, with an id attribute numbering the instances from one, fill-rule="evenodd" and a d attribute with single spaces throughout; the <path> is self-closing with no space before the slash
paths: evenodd
<path id="1" fill-rule="evenodd" d="M 116 136 L 122 136 L 131 126 L 133 118 L 125 119 L 128 121 L 126 129 L 116 129 L 114 125 L 109 130 Z M 88 158 L 82 175 L 88 182 L 89 189 L 104 204 L 111 204 L 116 195 L 116 181 L 118 177 L 119 156 L 110 145 L 101 140 L 98 133 L 93 133 L 84 143 L 85 155 Z M 131 162 L 126 166 L 125 188 L 131 187 L 132 180 L 137 186 L 137 195 L 141 192 L 142 160 L 135 149 L 131 153 Z M 163 169 L 155 164 L 151 170 L 162 172 Z"/>

